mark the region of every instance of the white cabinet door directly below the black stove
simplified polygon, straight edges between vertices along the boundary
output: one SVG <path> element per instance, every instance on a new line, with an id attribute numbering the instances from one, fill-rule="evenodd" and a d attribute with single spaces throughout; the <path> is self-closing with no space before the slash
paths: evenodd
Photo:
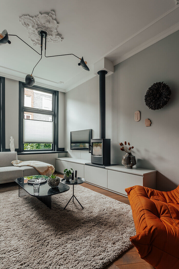
<path id="1" fill-rule="evenodd" d="M 87 182 L 107 189 L 107 169 L 84 166 L 84 178 Z"/>

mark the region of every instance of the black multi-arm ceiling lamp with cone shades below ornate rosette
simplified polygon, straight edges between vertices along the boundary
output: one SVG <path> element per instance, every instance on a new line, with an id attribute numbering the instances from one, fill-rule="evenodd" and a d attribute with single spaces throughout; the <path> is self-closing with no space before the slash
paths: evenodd
<path id="1" fill-rule="evenodd" d="M 32 48 L 30 45 L 28 45 L 25 41 L 23 41 L 20 37 L 18 37 L 17 35 L 15 35 L 15 34 L 10 34 L 9 36 L 16 36 L 16 37 L 18 37 L 20 40 L 22 40 L 26 45 L 28 45 L 31 49 L 33 49 L 35 52 L 37 52 L 40 56 L 41 56 L 41 58 L 40 58 L 40 60 L 42 59 L 42 49 L 43 49 L 43 38 L 45 38 L 45 53 L 46 53 L 46 36 L 47 36 L 47 32 L 45 32 L 45 31 L 40 31 L 40 36 L 41 36 L 41 53 L 39 53 L 39 52 L 37 52 L 34 48 Z M 7 30 L 4 30 L 3 32 L 2 32 L 2 34 L 0 34 L 0 45 L 4 45 L 4 44 L 10 44 L 11 42 L 9 41 L 9 36 L 8 36 L 8 32 L 7 32 Z M 65 56 L 65 55 L 73 55 L 73 56 L 75 56 L 76 58 L 78 58 L 78 59 L 80 59 L 80 62 L 78 63 L 78 65 L 81 65 L 81 67 L 83 67 L 85 70 L 87 70 L 87 71 L 90 71 L 90 69 L 88 68 L 88 66 L 87 66 L 87 62 L 86 61 L 84 61 L 84 59 L 83 59 L 83 57 L 82 58 L 79 58 L 78 56 L 76 56 L 76 55 L 74 55 L 73 53 L 70 53 L 70 54 L 62 54 L 62 55 L 53 55 L 53 56 L 46 56 L 45 55 L 45 57 L 56 57 L 56 56 Z M 40 60 L 38 61 L 38 63 L 40 62 Z M 37 64 L 38 64 L 37 63 Z M 37 64 L 35 65 L 35 66 L 37 66 Z M 35 66 L 34 66 L 34 68 L 35 68 Z M 34 68 L 33 68 L 33 70 L 32 70 L 32 73 L 33 73 L 33 71 L 34 71 Z M 26 85 L 28 86 L 28 87 L 32 87 L 33 85 L 34 85 L 34 83 L 35 83 L 35 79 L 34 79 L 34 77 L 33 77 L 33 75 L 32 75 L 32 73 L 31 73 L 31 75 L 27 75 L 26 76 Z"/>

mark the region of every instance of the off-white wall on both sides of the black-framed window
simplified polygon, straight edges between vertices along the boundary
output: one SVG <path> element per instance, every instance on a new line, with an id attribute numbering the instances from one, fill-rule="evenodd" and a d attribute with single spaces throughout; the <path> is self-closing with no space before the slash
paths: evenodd
<path id="1" fill-rule="evenodd" d="M 65 147 L 65 95 L 59 92 L 59 147 Z M 5 136 L 10 148 L 10 136 L 15 148 L 19 147 L 19 81 L 5 78 Z"/>

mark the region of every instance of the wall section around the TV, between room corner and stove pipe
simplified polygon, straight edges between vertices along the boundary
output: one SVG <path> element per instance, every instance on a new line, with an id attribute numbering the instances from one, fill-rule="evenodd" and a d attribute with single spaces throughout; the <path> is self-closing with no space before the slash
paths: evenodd
<path id="1" fill-rule="evenodd" d="M 66 147 L 68 156 L 90 160 L 87 151 L 70 150 L 70 132 L 93 129 L 93 137 L 99 137 L 98 77 L 66 93 Z"/>

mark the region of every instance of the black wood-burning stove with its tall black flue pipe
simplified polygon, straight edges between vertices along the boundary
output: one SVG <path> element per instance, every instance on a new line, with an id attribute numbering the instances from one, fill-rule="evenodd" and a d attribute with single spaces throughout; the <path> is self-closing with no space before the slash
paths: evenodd
<path id="1" fill-rule="evenodd" d="M 99 75 L 99 139 L 91 139 L 89 153 L 91 164 L 109 166 L 111 163 L 111 140 L 106 139 L 106 93 L 105 75 L 106 70 L 98 72 Z"/>

